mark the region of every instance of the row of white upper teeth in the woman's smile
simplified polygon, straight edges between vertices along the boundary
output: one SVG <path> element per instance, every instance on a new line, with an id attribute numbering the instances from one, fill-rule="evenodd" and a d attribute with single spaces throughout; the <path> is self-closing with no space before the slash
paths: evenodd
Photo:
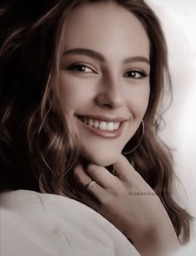
<path id="1" fill-rule="evenodd" d="M 87 125 L 95 128 L 99 128 L 100 130 L 108 130 L 114 131 L 120 127 L 120 122 L 105 122 L 105 121 L 98 121 L 92 120 L 88 118 L 80 118 L 82 122 L 86 123 Z"/>

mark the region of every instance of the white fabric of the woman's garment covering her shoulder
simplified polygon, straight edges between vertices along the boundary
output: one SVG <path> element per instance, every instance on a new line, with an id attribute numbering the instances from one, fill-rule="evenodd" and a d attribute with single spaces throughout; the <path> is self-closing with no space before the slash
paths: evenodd
<path id="1" fill-rule="evenodd" d="M 1 256 L 139 256 L 99 213 L 71 198 L 17 190 L 0 195 Z"/>

